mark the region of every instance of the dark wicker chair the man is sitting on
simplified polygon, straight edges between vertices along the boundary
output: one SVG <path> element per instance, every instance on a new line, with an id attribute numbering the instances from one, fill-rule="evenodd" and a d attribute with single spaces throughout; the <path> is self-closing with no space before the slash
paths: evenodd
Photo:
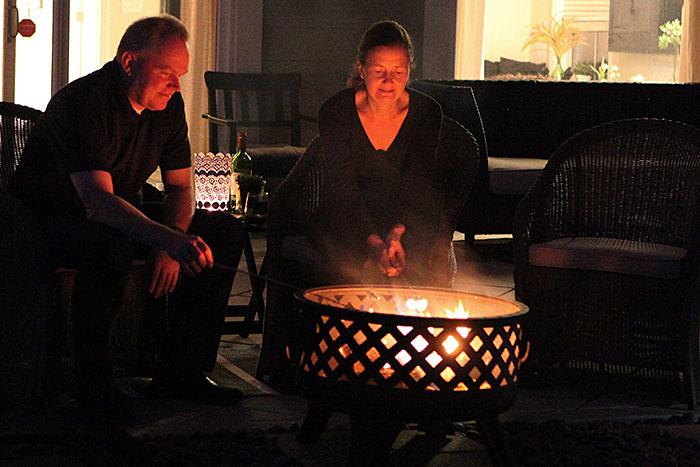
<path id="1" fill-rule="evenodd" d="M 0 408 L 59 394 L 69 384 L 73 358 L 70 320 L 76 271 L 50 264 L 34 214 L 6 190 L 41 115 L 36 109 L 0 102 Z M 139 359 L 153 358 L 139 352 L 156 346 L 145 338 L 141 347 L 134 345 L 141 338 L 144 319 L 137 311 L 145 306 L 147 281 L 144 261 L 135 260 L 112 335 L 115 366 L 132 372 L 146 363 Z"/>

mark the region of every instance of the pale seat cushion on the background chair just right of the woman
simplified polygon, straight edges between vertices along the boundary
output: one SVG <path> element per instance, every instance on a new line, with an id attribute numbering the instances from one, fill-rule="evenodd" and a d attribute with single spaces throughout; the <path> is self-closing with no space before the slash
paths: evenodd
<path id="1" fill-rule="evenodd" d="M 523 157 L 489 157 L 489 190 L 498 195 L 523 195 L 527 193 L 547 159 Z"/>

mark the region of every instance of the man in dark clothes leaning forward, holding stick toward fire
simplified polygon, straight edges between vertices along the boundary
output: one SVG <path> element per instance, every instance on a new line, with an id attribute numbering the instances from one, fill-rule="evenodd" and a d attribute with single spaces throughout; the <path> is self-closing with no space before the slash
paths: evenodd
<path id="1" fill-rule="evenodd" d="M 243 233 L 231 216 L 194 213 L 179 93 L 189 66 L 187 39 L 170 16 L 129 26 L 112 62 L 51 99 L 10 183 L 37 214 L 55 265 L 78 270 L 79 402 L 104 405 L 118 396 L 107 363 L 109 330 L 138 245 L 152 248 L 150 293 L 170 294 L 167 342 L 150 394 L 212 403 L 241 397 L 204 374 L 216 359 L 234 276 L 214 268 L 214 258 L 237 265 Z M 157 167 L 165 186 L 162 223 L 138 209 L 141 187 Z"/>

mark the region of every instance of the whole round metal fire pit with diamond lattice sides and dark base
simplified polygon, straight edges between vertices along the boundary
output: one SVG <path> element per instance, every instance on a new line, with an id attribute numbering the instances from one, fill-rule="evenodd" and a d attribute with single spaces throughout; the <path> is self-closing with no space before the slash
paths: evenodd
<path id="1" fill-rule="evenodd" d="M 297 299 L 313 322 L 302 361 L 307 392 L 327 407 L 499 429 L 524 354 L 522 303 L 384 285 L 321 287 Z"/>

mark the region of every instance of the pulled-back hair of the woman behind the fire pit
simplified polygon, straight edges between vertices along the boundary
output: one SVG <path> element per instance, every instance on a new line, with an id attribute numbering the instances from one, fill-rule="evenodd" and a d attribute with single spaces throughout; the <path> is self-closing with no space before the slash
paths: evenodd
<path id="1" fill-rule="evenodd" d="M 349 88 L 357 88 L 364 83 L 364 80 L 360 77 L 358 64 L 364 65 L 367 60 L 367 54 L 373 49 L 387 45 L 404 47 L 408 53 L 408 61 L 411 68 L 413 68 L 413 42 L 406 28 L 396 21 L 379 21 L 365 31 L 360 44 L 357 46 L 353 72 L 347 82 Z"/>

